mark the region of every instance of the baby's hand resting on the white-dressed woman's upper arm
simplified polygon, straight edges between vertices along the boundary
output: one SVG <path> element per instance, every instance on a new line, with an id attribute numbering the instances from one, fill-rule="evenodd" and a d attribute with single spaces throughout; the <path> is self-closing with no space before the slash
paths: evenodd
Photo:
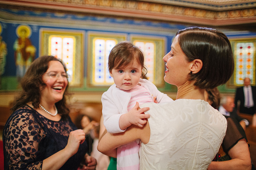
<path id="1" fill-rule="evenodd" d="M 149 107 L 139 108 L 139 103 L 136 102 L 135 106 L 127 113 L 128 121 L 131 124 L 134 124 L 138 127 L 143 127 L 147 123 L 146 118 L 149 118 L 149 114 L 144 114 L 145 111 L 148 111 Z M 143 113 L 143 114 L 142 114 Z"/>

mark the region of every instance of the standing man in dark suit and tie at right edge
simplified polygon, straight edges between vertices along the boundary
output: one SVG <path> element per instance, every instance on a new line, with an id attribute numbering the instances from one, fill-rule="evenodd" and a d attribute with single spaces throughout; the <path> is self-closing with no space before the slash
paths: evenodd
<path id="1" fill-rule="evenodd" d="M 244 79 L 244 86 L 236 90 L 235 107 L 237 101 L 240 101 L 239 112 L 246 114 L 254 114 L 256 111 L 256 87 L 250 86 L 250 78 Z"/>

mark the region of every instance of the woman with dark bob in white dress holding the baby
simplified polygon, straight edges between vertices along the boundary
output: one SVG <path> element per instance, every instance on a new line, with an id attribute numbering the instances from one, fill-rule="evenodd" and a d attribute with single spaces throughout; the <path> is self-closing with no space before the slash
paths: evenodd
<path id="1" fill-rule="evenodd" d="M 143 128 L 106 133 L 98 150 L 116 157 L 116 148 L 141 140 L 140 170 L 207 169 L 225 136 L 227 121 L 204 99 L 204 90 L 226 83 L 234 70 L 230 42 L 225 34 L 208 28 L 177 32 L 166 62 L 164 80 L 177 86 L 175 101 L 145 103 L 150 108 Z"/>

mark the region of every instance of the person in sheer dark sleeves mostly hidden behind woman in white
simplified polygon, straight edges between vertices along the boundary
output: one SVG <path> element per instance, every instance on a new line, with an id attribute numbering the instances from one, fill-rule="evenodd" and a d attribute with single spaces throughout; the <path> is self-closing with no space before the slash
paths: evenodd
<path id="1" fill-rule="evenodd" d="M 217 88 L 205 90 L 204 95 L 211 106 L 219 107 L 220 95 Z M 226 135 L 217 159 L 210 163 L 207 170 L 251 170 L 252 164 L 245 131 L 234 118 L 225 117 L 228 123 Z"/>

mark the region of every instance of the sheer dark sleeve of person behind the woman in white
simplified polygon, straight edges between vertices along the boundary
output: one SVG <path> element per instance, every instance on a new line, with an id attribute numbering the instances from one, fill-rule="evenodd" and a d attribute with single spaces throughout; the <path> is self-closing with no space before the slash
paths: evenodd
<path id="1" fill-rule="evenodd" d="M 226 117 L 226 119 L 228 126 L 226 135 L 222 142 L 222 148 L 224 152 L 228 153 L 228 151 L 234 147 L 239 140 L 246 139 L 246 134 L 244 129 L 240 126 L 239 122 L 232 119 L 231 117 Z"/>

